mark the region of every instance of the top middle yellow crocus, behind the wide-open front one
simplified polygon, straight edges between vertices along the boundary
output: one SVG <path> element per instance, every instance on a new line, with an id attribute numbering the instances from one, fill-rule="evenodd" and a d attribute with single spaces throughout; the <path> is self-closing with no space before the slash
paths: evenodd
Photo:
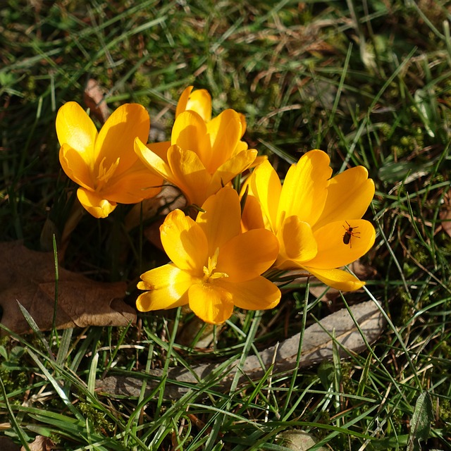
<path id="1" fill-rule="evenodd" d="M 142 162 L 180 188 L 188 204 L 202 205 L 236 175 L 252 166 L 257 150 L 241 138 L 246 121 L 227 109 L 211 119 L 211 98 L 204 89 L 180 96 L 171 141 L 144 144 L 135 140 Z"/>

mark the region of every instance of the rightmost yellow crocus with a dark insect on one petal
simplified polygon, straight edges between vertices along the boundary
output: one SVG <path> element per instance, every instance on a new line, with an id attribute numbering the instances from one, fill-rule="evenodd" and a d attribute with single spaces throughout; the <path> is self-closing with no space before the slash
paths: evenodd
<path id="1" fill-rule="evenodd" d="M 329 163 L 325 152 L 307 152 L 283 185 L 271 164 L 261 163 L 249 179 L 244 230 L 265 226 L 278 237 L 276 268 L 302 268 L 330 287 L 352 291 L 364 282 L 338 268 L 373 246 L 375 230 L 361 218 L 374 183 L 363 166 L 330 178 Z"/>

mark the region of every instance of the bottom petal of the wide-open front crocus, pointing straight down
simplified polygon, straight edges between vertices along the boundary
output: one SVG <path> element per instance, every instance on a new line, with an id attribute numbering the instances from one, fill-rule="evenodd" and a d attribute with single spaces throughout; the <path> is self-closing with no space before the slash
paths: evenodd
<path id="1" fill-rule="evenodd" d="M 232 295 L 214 283 L 192 285 L 188 297 L 192 311 L 206 323 L 221 324 L 232 316 Z"/>

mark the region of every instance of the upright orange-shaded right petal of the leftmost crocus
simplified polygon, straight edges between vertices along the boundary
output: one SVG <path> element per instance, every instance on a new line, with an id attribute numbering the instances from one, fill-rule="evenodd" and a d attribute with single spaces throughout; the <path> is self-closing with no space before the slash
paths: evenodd
<path id="1" fill-rule="evenodd" d="M 99 132 L 94 150 L 96 163 L 104 161 L 104 167 L 109 168 L 120 159 L 118 171 L 125 171 L 136 161 L 133 149 L 135 138 L 147 142 L 149 128 L 149 113 L 144 106 L 139 104 L 119 106 Z"/>

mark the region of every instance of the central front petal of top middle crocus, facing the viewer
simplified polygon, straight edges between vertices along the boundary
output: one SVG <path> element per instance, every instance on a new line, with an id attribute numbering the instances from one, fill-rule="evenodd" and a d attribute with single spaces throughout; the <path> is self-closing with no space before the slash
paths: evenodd
<path id="1" fill-rule="evenodd" d="M 206 199 L 211 175 L 194 152 L 173 145 L 168 149 L 171 182 L 183 191 L 191 204 L 198 206 Z"/>

